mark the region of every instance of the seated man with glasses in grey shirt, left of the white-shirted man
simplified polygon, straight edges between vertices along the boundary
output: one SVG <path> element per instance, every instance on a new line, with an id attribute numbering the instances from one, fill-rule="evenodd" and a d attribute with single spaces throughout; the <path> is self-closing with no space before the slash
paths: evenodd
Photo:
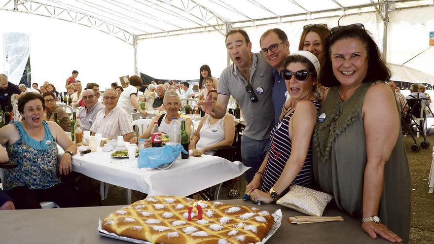
<path id="1" fill-rule="evenodd" d="M 81 124 L 83 124 L 83 131 L 89 131 L 99 111 L 105 108 L 101 103 L 98 103 L 96 93 L 92 89 L 84 90 L 83 92 L 84 107 L 80 109 Z"/>

